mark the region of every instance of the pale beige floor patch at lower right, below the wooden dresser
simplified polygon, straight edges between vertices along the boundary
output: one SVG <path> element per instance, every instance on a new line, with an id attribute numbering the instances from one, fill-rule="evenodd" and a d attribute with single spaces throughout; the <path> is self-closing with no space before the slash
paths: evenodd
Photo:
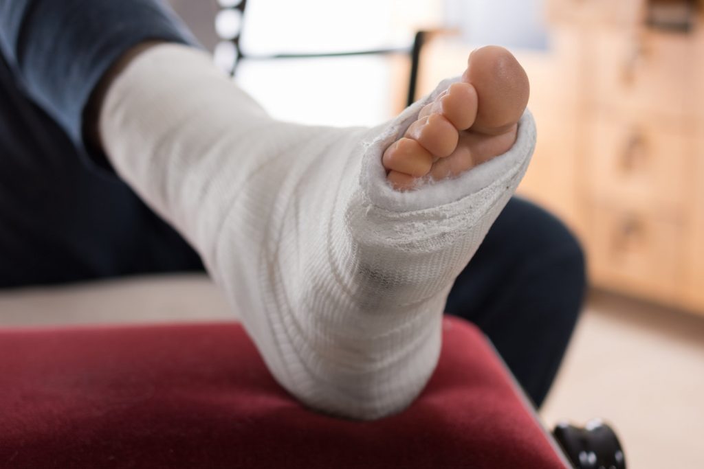
<path id="1" fill-rule="evenodd" d="M 612 423 L 629 468 L 703 468 L 704 316 L 592 294 L 541 416 Z"/>

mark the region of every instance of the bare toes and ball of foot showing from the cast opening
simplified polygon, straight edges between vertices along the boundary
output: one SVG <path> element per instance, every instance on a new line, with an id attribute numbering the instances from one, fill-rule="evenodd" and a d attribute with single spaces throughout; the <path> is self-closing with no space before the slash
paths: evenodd
<path id="1" fill-rule="evenodd" d="M 423 179 L 459 176 L 508 151 L 528 103 L 528 77 L 509 51 L 486 46 L 470 54 L 460 82 L 420 111 L 384 152 L 386 178 L 398 191 Z"/>

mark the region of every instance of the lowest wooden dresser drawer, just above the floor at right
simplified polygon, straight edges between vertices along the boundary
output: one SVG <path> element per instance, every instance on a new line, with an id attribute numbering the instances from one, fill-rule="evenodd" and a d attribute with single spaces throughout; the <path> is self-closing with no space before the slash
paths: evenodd
<path id="1" fill-rule="evenodd" d="M 592 281 L 609 290 L 674 302 L 683 229 L 637 210 L 593 205 L 587 251 Z"/>

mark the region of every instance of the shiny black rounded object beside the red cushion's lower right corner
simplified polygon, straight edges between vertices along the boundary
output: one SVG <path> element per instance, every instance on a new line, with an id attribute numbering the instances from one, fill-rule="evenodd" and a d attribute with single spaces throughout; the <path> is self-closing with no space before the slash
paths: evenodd
<path id="1" fill-rule="evenodd" d="M 626 458 L 614 430 L 595 418 L 584 428 L 559 423 L 553 435 L 576 469 L 626 469 Z"/>

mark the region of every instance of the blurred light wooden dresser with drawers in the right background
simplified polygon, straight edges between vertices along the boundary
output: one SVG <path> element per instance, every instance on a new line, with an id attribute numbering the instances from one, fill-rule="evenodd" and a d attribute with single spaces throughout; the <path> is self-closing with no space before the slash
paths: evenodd
<path id="1" fill-rule="evenodd" d="M 646 26 L 644 0 L 546 4 L 520 191 L 582 238 L 593 285 L 704 314 L 702 18 L 683 32 Z"/>

